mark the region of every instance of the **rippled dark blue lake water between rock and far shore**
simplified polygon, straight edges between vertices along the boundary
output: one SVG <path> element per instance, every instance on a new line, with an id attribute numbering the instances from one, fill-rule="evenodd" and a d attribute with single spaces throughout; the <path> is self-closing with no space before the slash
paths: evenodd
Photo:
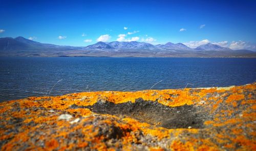
<path id="1" fill-rule="evenodd" d="M 159 81 L 152 89 L 184 88 L 187 83 L 193 84 L 187 87 L 243 85 L 254 82 L 255 73 L 256 59 L 245 58 L 2 57 L 0 102 L 49 95 L 50 89 L 50 95 L 144 90 Z"/>

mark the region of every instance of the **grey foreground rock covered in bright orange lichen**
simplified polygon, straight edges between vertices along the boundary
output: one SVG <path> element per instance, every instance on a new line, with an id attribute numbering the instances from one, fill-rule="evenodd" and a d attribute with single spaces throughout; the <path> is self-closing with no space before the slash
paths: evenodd
<path id="1" fill-rule="evenodd" d="M 256 150 L 256 83 L 0 104 L 2 150 Z"/>

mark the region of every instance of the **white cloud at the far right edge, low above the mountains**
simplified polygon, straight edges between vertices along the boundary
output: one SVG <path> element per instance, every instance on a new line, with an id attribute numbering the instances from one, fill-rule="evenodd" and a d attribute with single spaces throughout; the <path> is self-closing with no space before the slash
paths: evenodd
<path id="1" fill-rule="evenodd" d="M 229 45 L 230 49 L 248 49 L 251 51 L 256 51 L 256 44 L 250 43 L 250 42 L 245 42 L 245 41 L 232 41 Z"/>

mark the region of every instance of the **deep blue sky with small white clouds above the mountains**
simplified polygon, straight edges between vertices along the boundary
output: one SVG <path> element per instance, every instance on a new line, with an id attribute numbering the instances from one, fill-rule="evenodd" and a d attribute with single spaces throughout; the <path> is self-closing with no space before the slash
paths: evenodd
<path id="1" fill-rule="evenodd" d="M 1 0 L 0 16 L 0 37 L 58 45 L 137 40 L 256 49 L 256 1 Z"/>

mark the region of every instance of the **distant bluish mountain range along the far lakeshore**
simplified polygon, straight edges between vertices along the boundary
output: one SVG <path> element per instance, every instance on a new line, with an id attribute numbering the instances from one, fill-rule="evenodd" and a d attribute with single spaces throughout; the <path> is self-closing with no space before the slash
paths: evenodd
<path id="1" fill-rule="evenodd" d="M 0 56 L 23 57 L 256 57 L 256 52 L 232 50 L 207 43 L 190 48 L 182 43 L 97 42 L 88 46 L 60 46 L 24 37 L 0 38 Z"/>

